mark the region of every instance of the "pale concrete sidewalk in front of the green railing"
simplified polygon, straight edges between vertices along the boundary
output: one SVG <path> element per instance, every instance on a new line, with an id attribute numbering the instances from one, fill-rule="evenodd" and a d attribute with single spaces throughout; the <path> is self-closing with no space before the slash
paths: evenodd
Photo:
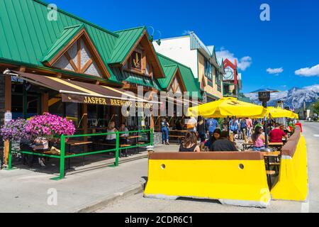
<path id="1" fill-rule="evenodd" d="M 178 145 L 155 148 L 155 151 L 175 150 Z M 50 180 L 56 176 L 50 171 L 52 166 L 41 169 L 35 165 L 29 169 L 18 165 L 16 170 L 0 170 L 0 212 L 91 211 L 88 208 L 95 208 L 95 204 L 142 192 L 147 179 L 147 152 L 120 159 L 118 167 L 108 167 L 114 159 L 93 162 L 87 158 L 86 162 L 87 165 L 66 172 L 65 179 L 58 182 Z M 57 190 L 57 206 L 47 204 L 48 189 Z"/>

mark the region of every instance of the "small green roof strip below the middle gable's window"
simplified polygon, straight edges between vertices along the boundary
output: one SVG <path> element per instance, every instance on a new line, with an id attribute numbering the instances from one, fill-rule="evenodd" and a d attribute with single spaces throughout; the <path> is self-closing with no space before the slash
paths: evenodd
<path id="1" fill-rule="evenodd" d="M 139 74 L 135 74 L 133 72 L 127 72 L 127 71 L 122 71 L 118 67 L 113 67 L 112 68 L 113 73 L 116 75 L 116 78 L 118 81 L 125 81 L 130 84 L 138 84 L 144 87 L 152 87 L 155 89 L 158 89 L 159 91 L 161 88 L 157 84 L 156 80 L 153 80 L 150 77 L 145 77 Z"/>

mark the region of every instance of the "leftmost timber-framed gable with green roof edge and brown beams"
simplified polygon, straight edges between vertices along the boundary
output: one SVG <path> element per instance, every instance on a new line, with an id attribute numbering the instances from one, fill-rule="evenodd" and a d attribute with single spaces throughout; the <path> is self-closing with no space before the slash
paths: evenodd
<path id="1" fill-rule="evenodd" d="M 65 28 L 43 58 L 43 64 L 79 74 L 110 77 L 83 25 Z"/>

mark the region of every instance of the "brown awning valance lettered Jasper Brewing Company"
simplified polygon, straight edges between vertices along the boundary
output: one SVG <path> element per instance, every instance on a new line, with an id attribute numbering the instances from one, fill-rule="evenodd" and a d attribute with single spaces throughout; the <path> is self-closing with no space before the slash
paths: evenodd
<path id="1" fill-rule="evenodd" d="M 151 109 L 152 104 L 135 101 L 135 100 L 122 100 L 111 99 L 94 96 L 82 96 L 73 94 L 62 94 L 62 102 L 74 102 L 79 104 L 92 104 L 92 105 L 104 105 L 104 106 L 135 106 L 136 108 Z"/>

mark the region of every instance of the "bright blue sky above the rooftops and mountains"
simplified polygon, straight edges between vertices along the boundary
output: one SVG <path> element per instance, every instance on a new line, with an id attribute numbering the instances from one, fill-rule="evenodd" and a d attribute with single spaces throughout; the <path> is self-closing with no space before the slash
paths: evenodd
<path id="1" fill-rule="evenodd" d="M 145 25 L 160 31 L 161 38 L 194 31 L 206 45 L 215 45 L 220 54 L 241 62 L 245 93 L 263 87 L 283 91 L 319 84 L 318 0 L 48 3 L 110 31 Z M 259 18 L 259 7 L 264 3 L 270 6 L 270 21 Z"/>

